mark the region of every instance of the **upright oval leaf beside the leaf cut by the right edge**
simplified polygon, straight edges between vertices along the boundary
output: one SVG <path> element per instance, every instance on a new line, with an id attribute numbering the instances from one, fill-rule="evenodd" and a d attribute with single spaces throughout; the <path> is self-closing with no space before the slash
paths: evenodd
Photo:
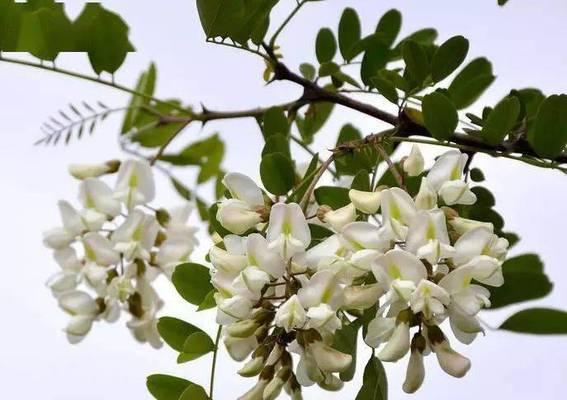
<path id="1" fill-rule="evenodd" d="M 480 136 L 490 144 L 502 143 L 512 131 L 520 115 L 520 101 L 517 97 L 506 97 L 494 107 L 484 121 Z"/>

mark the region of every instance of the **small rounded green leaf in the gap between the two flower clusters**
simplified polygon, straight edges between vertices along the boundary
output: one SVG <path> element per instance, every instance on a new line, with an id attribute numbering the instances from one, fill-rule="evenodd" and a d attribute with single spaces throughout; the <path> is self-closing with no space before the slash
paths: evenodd
<path id="1" fill-rule="evenodd" d="M 178 265 L 171 280 L 181 297 L 196 306 L 200 305 L 213 290 L 209 269 L 200 264 Z"/>

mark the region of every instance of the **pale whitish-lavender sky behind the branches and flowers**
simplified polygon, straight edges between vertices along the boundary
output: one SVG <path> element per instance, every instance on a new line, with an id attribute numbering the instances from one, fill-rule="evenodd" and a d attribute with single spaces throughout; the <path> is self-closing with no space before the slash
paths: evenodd
<path id="1" fill-rule="evenodd" d="M 280 21 L 295 3 L 281 0 L 274 14 Z M 505 8 L 496 0 L 477 1 L 375 1 L 329 0 L 310 4 L 282 36 L 282 47 L 291 67 L 314 62 L 314 40 L 319 27 L 336 30 L 341 11 L 355 7 L 363 29 L 374 29 L 380 15 L 392 7 L 404 16 L 402 35 L 433 26 L 441 39 L 463 34 L 471 41 L 472 56 L 487 56 L 498 79 L 483 102 L 493 104 L 511 88 L 539 87 L 547 94 L 567 92 L 565 65 L 567 50 L 567 3 L 563 0 L 510 0 Z M 82 1 L 68 2 L 73 15 Z M 255 56 L 204 43 L 194 1 L 105 1 L 130 24 L 131 38 L 138 52 L 128 57 L 117 74 L 118 82 L 132 85 L 151 60 L 158 63 L 157 95 L 179 97 L 212 109 L 243 109 L 294 99 L 300 91 L 287 83 L 265 87 L 261 80 L 263 63 Z M 65 55 L 58 65 L 72 70 L 90 71 L 84 55 Z M 356 74 L 353 70 L 353 74 Z M 77 183 L 66 174 L 70 162 L 94 162 L 120 157 L 116 137 L 120 118 L 113 117 L 69 147 L 37 148 L 39 125 L 51 113 L 69 102 L 102 99 L 110 106 L 121 106 L 128 96 L 113 89 L 49 72 L 0 63 L 0 382 L 3 398 L 46 400 L 113 400 L 150 398 L 144 387 L 145 376 L 161 372 L 184 376 L 208 384 L 211 357 L 177 366 L 175 354 L 164 347 L 154 351 L 141 346 L 123 326 L 98 323 L 78 346 L 66 342 L 61 331 L 67 316 L 60 311 L 44 282 L 57 271 L 50 252 L 41 244 L 41 232 L 59 223 L 56 201 L 74 200 Z M 368 99 L 373 101 L 373 99 Z M 351 121 L 365 133 L 381 128 L 376 121 L 337 108 L 335 116 L 317 141 L 318 148 L 331 146 L 338 129 Z M 182 146 L 198 137 L 219 130 L 227 142 L 225 168 L 257 174 L 261 136 L 253 121 L 211 123 L 203 132 L 189 129 L 175 143 Z M 323 137 L 324 136 L 324 137 Z M 431 152 L 438 154 L 442 149 Z M 306 159 L 297 151 L 297 159 Z M 509 230 L 522 237 L 513 253 L 538 252 L 547 273 L 555 282 L 548 298 L 529 304 L 567 309 L 565 270 L 564 207 L 567 204 L 566 178 L 558 172 L 524 166 L 507 160 L 475 158 L 484 168 L 486 185 L 497 198 Z M 192 174 L 182 173 L 187 179 Z M 178 200 L 162 180 L 156 204 L 173 205 Z M 200 249 L 199 256 L 207 244 Z M 199 261 L 199 259 L 197 259 Z M 190 320 L 214 332 L 212 312 L 195 314 L 165 281 L 160 283 L 167 302 L 164 314 Z M 524 305 L 525 306 L 525 305 Z M 498 325 L 516 307 L 485 312 L 483 318 Z M 427 378 L 417 399 L 559 399 L 563 398 L 567 378 L 567 338 L 535 337 L 487 332 L 473 345 L 457 345 L 472 359 L 466 378 L 457 380 L 442 373 L 434 360 L 427 363 Z M 370 354 L 363 347 L 361 363 Z M 387 366 L 390 398 L 409 398 L 401 391 L 405 361 Z M 253 385 L 253 379 L 236 375 L 238 365 L 221 351 L 217 370 L 216 398 L 231 400 Z M 306 391 L 306 399 L 354 399 L 358 379 L 335 393 Z M 313 393 L 309 395 L 309 393 Z M 434 396 L 434 397 L 433 397 Z"/>

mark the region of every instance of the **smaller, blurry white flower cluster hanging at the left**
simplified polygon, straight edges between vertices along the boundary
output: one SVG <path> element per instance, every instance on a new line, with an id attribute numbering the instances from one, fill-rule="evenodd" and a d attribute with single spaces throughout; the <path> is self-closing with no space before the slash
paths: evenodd
<path id="1" fill-rule="evenodd" d="M 100 177 L 116 171 L 111 189 Z M 81 180 L 82 207 L 59 201 L 62 226 L 44 233 L 61 267 L 47 284 L 71 316 L 69 341 L 81 341 L 94 321 L 115 322 L 125 311 L 134 337 L 160 347 L 156 313 L 163 302 L 152 282 L 160 273 L 171 276 L 197 244 L 195 229 L 186 225 L 190 205 L 151 208 L 154 178 L 145 161 L 72 165 L 69 172 Z"/>

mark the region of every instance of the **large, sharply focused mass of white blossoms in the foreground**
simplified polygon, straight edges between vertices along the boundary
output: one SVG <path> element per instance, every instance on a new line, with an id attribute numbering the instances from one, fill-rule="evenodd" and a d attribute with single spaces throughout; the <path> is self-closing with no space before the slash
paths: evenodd
<path id="1" fill-rule="evenodd" d="M 234 234 L 209 255 L 226 348 L 248 359 L 240 375 L 259 376 L 240 399 L 275 399 L 284 388 L 300 399 L 301 386 L 313 384 L 340 389 L 338 373 L 352 356 L 333 347 L 335 333 L 368 313 L 364 340 L 380 360 L 410 353 L 405 392 L 421 386 L 429 353 L 448 374 L 467 373 L 470 361 L 441 324 L 466 344 L 482 332 L 477 314 L 490 305 L 486 286 L 503 284 L 508 242 L 492 224 L 449 207 L 476 202 L 463 179 L 466 161 L 450 151 L 425 174 L 414 147 L 403 171 L 422 176 L 415 197 L 400 187 L 350 190 L 348 205 L 318 205 L 308 217 L 298 204 L 274 204 L 250 178 L 226 175 L 231 198 L 217 219 Z M 316 242 L 310 224 L 332 234 Z"/>

